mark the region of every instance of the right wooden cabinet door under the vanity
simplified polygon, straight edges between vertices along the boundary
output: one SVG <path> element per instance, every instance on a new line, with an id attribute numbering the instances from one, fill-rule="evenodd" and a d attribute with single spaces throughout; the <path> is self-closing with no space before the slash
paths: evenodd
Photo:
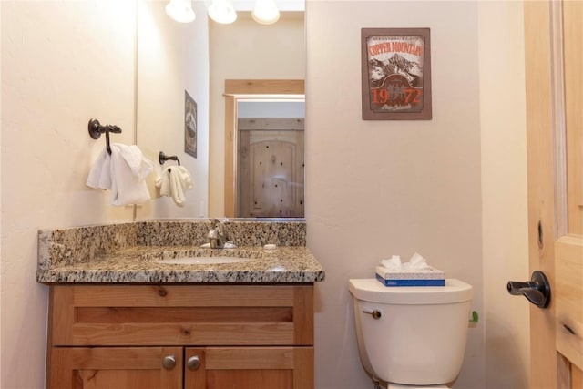
<path id="1" fill-rule="evenodd" d="M 187 348 L 185 388 L 310 389 L 313 347 Z"/>

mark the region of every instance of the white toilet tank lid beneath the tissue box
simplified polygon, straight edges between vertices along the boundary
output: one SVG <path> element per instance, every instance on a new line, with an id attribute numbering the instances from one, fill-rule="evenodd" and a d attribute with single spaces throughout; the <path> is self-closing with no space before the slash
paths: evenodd
<path id="1" fill-rule="evenodd" d="M 472 300 L 472 285 L 446 278 L 445 286 L 384 286 L 374 278 L 348 281 L 358 300 L 391 304 L 447 304 Z"/>

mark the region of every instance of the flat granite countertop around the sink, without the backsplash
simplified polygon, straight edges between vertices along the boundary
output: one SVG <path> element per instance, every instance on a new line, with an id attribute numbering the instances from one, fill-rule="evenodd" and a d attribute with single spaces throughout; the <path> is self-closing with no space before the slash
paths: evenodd
<path id="1" fill-rule="evenodd" d="M 81 282 L 320 282 L 323 270 L 305 247 L 262 249 L 245 247 L 219 251 L 257 254 L 246 262 L 221 264 L 167 264 L 161 252 L 192 251 L 192 247 L 133 247 L 93 260 L 77 261 L 37 272 L 43 283 Z M 209 249 L 210 250 L 210 249 Z M 228 255 L 225 253 L 225 255 Z M 236 255 L 236 254 L 235 254 Z"/>

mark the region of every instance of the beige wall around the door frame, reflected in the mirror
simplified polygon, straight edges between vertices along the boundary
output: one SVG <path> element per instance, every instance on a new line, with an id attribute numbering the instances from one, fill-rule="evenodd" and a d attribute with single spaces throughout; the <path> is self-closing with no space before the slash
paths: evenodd
<path id="1" fill-rule="evenodd" d="M 209 35 L 209 215 L 221 217 L 225 215 L 225 79 L 302 79 L 305 39 L 303 21 L 297 13 L 281 13 L 272 26 L 258 25 L 249 13 L 240 13 L 232 25 L 209 22 Z"/>

